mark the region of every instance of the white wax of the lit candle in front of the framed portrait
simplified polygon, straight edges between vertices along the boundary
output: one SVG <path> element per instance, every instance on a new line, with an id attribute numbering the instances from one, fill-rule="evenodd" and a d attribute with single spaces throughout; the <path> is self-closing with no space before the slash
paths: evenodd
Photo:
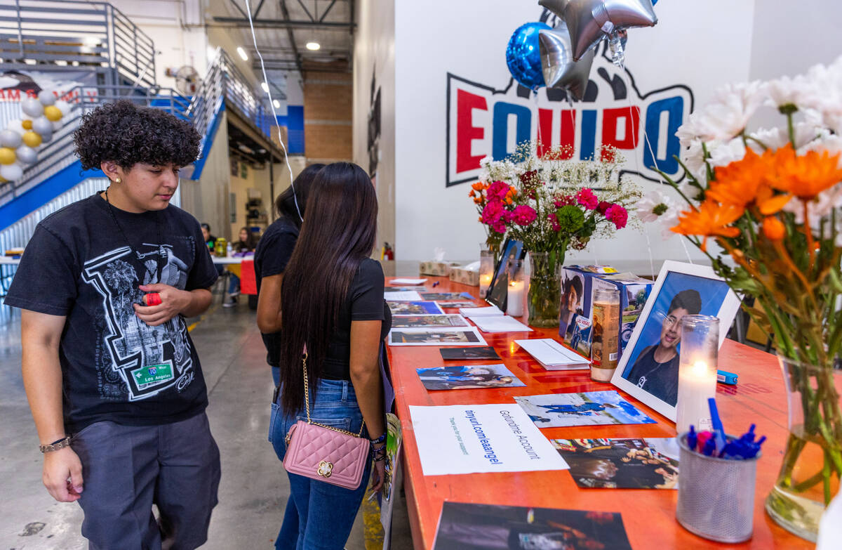
<path id="1" fill-rule="evenodd" d="M 711 410 L 707 404 L 710 397 L 717 396 L 717 369 L 706 361 L 679 365 L 679 396 L 675 429 L 679 434 L 711 429 Z"/>

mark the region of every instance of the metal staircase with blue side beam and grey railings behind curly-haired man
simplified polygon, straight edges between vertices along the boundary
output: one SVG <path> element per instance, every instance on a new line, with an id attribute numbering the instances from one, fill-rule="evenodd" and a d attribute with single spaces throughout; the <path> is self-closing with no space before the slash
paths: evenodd
<path id="1" fill-rule="evenodd" d="M 68 14 L 82 20 L 67 21 Z M 109 3 L 15 0 L 0 5 L 0 68 L 55 72 L 56 78 L 71 70 L 88 71 L 93 83 L 62 95 L 72 105 L 61 119 L 64 126 L 39 148 L 38 161 L 25 168 L 19 181 L 0 184 L 0 253 L 25 246 L 41 219 L 106 185 L 99 170 L 83 172 L 72 146 L 82 117 L 98 105 L 128 99 L 192 123 L 202 142 L 191 180 L 200 179 L 226 108 L 272 143 L 273 121 L 263 95 L 253 91 L 224 51 L 216 51 L 191 98 L 157 85 L 154 51 L 152 40 Z M 19 111 L 0 110 L 3 116 L 21 117 Z"/>

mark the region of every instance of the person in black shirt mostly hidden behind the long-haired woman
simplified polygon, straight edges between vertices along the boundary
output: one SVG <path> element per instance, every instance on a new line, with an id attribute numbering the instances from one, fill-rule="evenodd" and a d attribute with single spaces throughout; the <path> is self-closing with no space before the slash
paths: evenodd
<path id="1" fill-rule="evenodd" d="M 310 185 L 324 164 L 310 164 L 296 176 L 275 201 L 280 214 L 264 231 L 254 251 L 254 278 L 258 287 L 258 328 L 266 346 L 266 362 L 272 369 L 274 385 L 280 383 L 279 341 L 280 283 L 284 280 L 284 269 L 290 262 L 292 250 L 298 240 L 298 232 L 304 221 Z"/>

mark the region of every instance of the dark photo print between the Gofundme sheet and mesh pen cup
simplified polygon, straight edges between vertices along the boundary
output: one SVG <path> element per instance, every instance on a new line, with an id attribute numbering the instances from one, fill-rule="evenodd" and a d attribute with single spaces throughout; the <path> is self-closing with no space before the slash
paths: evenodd
<path id="1" fill-rule="evenodd" d="M 674 489 L 679 481 L 675 438 L 550 439 L 582 488 Z"/>

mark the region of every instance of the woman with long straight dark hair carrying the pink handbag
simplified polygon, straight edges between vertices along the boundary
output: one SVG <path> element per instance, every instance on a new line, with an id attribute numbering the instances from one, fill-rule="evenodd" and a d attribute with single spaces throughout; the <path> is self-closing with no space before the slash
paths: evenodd
<path id="1" fill-rule="evenodd" d="M 386 427 L 379 353 L 392 317 L 383 299 L 380 262 L 369 257 L 377 199 L 365 171 L 349 163 L 320 170 L 306 212 L 281 284 L 280 392 L 272 404 L 269 439 L 283 460 L 285 435 L 306 419 L 301 368 L 306 346 L 312 421 L 356 433 L 365 420 L 363 434 L 373 441 L 374 466 L 367 461 L 354 490 L 288 473 L 290 501 L 275 547 L 342 548 L 372 469 L 372 489 L 380 490 L 383 483 Z"/>

